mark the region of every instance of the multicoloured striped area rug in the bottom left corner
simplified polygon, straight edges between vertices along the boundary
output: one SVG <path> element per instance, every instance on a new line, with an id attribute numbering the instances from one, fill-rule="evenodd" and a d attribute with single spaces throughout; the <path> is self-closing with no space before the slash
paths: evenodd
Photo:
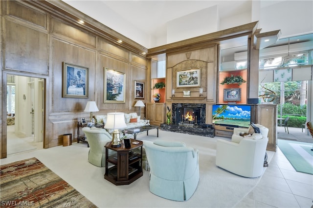
<path id="1" fill-rule="evenodd" d="M 0 172 L 1 208 L 96 207 L 35 157 L 1 165 Z"/>

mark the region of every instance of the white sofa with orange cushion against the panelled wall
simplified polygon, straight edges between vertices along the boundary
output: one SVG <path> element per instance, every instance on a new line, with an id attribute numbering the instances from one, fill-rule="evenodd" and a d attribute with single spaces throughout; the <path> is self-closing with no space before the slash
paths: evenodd
<path id="1" fill-rule="evenodd" d="M 97 124 L 105 125 L 107 122 L 107 115 L 95 115 L 94 117 Z M 150 124 L 150 120 L 140 119 L 140 115 L 138 116 L 137 113 L 124 113 L 124 118 L 127 126 L 125 129 L 133 129 Z M 110 130 L 109 132 L 112 133 L 112 131 Z"/>

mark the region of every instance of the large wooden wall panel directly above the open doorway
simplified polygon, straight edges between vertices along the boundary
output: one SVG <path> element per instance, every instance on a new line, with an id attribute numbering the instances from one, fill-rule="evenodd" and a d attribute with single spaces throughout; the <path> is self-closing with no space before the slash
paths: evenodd
<path id="1" fill-rule="evenodd" d="M 4 35 L 6 69 L 48 75 L 47 34 L 6 20 Z"/>

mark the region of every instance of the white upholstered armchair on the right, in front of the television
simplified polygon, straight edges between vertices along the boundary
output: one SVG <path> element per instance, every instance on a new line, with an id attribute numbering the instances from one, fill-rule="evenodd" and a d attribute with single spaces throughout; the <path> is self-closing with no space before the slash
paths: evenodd
<path id="1" fill-rule="evenodd" d="M 263 173 L 268 137 L 260 133 L 243 137 L 239 143 L 217 139 L 216 165 L 244 177 L 259 177 Z"/>

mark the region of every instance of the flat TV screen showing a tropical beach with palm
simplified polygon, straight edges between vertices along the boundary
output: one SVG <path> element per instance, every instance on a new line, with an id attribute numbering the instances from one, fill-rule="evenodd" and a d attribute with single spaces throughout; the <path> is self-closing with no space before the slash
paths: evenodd
<path id="1" fill-rule="evenodd" d="M 212 108 L 212 122 L 224 126 L 249 127 L 250 105 L 217 104 Z"/>

